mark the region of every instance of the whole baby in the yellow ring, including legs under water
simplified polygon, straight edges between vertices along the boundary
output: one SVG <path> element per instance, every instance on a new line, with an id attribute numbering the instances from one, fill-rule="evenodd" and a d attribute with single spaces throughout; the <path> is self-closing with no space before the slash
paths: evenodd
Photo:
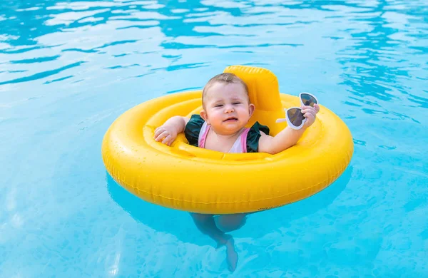
<path id="1" fill-rule="evenodd" d="M 203 110 L 191 118 L 174 116 L 156 128 L 155 140 L 166 145 L 173 143 L 178 133 L 185 133 L 190 145 L 217 150 L 222 153 L 280 153 L 295 145 L 305 130 L 315 122 L 320 110 L 302 106 L 306 121 L 299 130 L 290 127 L 272 137 L 269 128 L 256 122 L 251 128 L 245 125 L 253 115 L 255 106 L 250 103 L 248 87 L 233 73 L 221 73 L 208 81 L 202 93 Z M 245 214 L 214 215 L 191 214 L 196 227 L 213 238 L 218 246 L 226 246 L 228 267 L 235 270 L 238 254 L 233 237 L 225 234 L 237 230 L 245 223 Z"/>

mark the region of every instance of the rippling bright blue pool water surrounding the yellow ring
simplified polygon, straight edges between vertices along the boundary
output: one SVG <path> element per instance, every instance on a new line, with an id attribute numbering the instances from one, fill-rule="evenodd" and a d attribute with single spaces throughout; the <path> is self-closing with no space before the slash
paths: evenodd
<path id="1" fill-rule="evenodd" d="M 0 277 L 428 277 L 426 1 L 0 2 Z M 225 249 L 106 174 L 128 108 L 226 66 L 273 71 L 352 131 L 345 173 Z M 308 180 L 308 182 L 311 182 Z"/>

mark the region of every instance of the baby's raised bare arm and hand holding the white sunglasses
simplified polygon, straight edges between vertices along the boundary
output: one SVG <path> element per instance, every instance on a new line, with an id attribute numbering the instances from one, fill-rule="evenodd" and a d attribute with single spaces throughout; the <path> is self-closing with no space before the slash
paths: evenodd
<path id="1" fill-rule="evenodd" d="M 306 118 L 303 127 L 299 130 L 294 130 L 287 126 L 287 128 L 282 130 L 275 137 L 263 133 L 259 139 L 258 152 L 275 155 L 295 145 L 302 137 L 303 133 L 305 133 L 305 130 L 315 122 L 318 111 L 320 111 L 320 106 L 317 104 L 315 104 L 314 107 L 302 106 L 302 113 L 304 113 Z"/>

